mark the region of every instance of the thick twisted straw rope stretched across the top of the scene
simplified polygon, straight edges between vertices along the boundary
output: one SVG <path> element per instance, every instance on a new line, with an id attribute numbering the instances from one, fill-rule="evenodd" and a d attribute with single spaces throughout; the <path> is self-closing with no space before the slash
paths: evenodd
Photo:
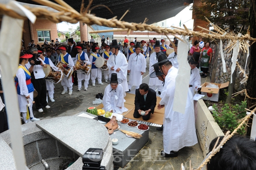
<path id="1" fill-rule="evenodd" d="M 44 6 L 49 6 L 51 8 L 54 8 L 57 11 L 60 12 L 49 12 L 45 8 L 30 8 L 28 6 L 25 6 L 29 11 L 31 11 L 35 16 L 41 18 L 47 18 L 48 20 L 52 21 L 53 23 L 60 23 L 62 21 L 66 21 L 68 23 L 77 23 L 77 22 L 82 22 L 87 25 L 93 25 L 97 24 L 99 26 L 107 26 L 110 28 L 128 28 L 128 32 L 133 30 L 133 31 L 154 31 L 159 34 L 178 34 L 178 35 L 193 35 L 197 37 L 204 37 L 204 38 L 209 38 L 209 39 L 229 39 L 229 40 L 250 40 L 253 42 L 256 42 L 256 38 L 250 37 L 249 34 L 242 35 L 241 37 L 236 37 L 232 36 L 229 34 L 226 34 L 224 36 L 221 36 L 221 34 L 208 34 L 204 32 L 197 32 L 197 31 L 190 31 L 187 29 L 180 30 L 180 29 L 169 29 L 169 28 L 162 28 L 159 26 L 154 26 L 154 25 L 148 25 L 145 23 L 128 23 L 125 21 L 120 21 L 117 20 L 116 17 L 113 17 L 111 19 L 105 19 L 105 18 L 100 18 L 96 17 L 93 14 L 89 13 L 79 13 L 72 7 L 70 7 L 67 3 L 65 3 L 63 0 L 55 0 L 57 3 L 52 3 L 48 0 L 33 0 L 41 5 Z M 82 6 L 84 7 L 84 6 Z M 85 11 L 87 11 L 86 9 Z M 84 11 L 84 9 L 81 9 L 80 11 Z M 25 17 L 20 16 L 20 14 L 17 14 L 15 11 L 12 9 L 9 9 L 6 7 L 5 4 L 0 4 L 0 12 L 2 14 L 9 15 L 10 17 L 18 18 L 18 19 L 26 19 Z M 90 12 L 90 11 L 89 11 Z M 209 30 L 207 30 L 209 31 Z"/>

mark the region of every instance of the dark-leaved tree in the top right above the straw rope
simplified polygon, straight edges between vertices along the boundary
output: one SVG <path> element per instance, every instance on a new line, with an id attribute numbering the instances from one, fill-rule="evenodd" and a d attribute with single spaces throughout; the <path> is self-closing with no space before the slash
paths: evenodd
<path id="1" fill-rule="evenodd" d="M 246 33 L 249 26 L 249 0 L 201 0 L 201 5 L 194 5 L 193 10 L 198 19 L 206 16 L 213 24 L 221 28 L 230 28 L 235 33 Z"/>

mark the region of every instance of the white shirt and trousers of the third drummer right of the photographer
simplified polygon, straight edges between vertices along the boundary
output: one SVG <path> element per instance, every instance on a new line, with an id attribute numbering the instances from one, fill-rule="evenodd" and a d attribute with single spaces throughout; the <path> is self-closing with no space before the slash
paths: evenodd
<path id="1" fill-rule="evenodd" d="M 88 57 L 88 55 L 82 51 L 81 55 L 84 53 L 84 59 L 85 60 L 82 60 L 84 63 L 87 62 L 87 65 L 90 65 L 91 62 L 90 62 L 90 59 Z M 81 56 L 80 55 L 80 56 Z M 76 61 L 78 60 L 78 54 L 76 54 Z M 88 84 L 89 84 L 89 80 L 90 80 L 90 74 L 85 74 L 85 72 L 83 70 L 78 70 L 76 71 L 77 72 L 77 80 L 78 80 L 78 88 L 81 88 L 82 87 L 82 80 L 84 80 L 84 87 L 88 87 Z"/>

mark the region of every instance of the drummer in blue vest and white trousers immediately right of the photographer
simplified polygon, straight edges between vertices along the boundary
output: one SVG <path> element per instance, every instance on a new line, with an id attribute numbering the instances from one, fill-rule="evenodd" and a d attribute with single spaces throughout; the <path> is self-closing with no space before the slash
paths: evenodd
<path id="1" fill-rule="evenodd" d="M 38 50 L 38 54 L 40 54 L 40 52 L 41 52 L 41 51 Z M 49 53 L 49 51 L 48 51 L 47 53 Z M 48 54 L 47 54 L 47 56 L 48 56 Z M 58 71 L 58 70 L 59 70 L 59 68 L 57 68 L 57 67 L 53 64 L 53 62 L 52 62 L 52 60 L 51 60 L 50 58 L 44 57 L 44 56 L 42 55 L 41 59 L 44 61 L 45 64 L 50 65 L 50 67 L 51 67 L 54 71 Z M 53 84 L 53 82 L 48 81 L 48 79 L 46 79 L 46 90 L 47 90 L 47 92 L 48 92 L 48 94 L 49 94 L 50 101 L 51 101 L 51 102 L 55 102 L 54 96 L 53 96 L 53 94 L 54 94 L 54 84 Z M 46 97 L 46 101 L 48 102 L 48 95 L 47 95 L 47 93 L 46 93 L 46 96 L 47 96 L 47 97 Z"/>

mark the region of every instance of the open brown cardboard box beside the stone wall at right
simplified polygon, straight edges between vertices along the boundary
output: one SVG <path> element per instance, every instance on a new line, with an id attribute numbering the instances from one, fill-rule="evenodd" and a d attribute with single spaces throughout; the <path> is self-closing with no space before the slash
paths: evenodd
<path id="1" fill-rule="evenodd" d="M 207 88 L 206 86 L 208 84 L 218 85 L 219 88 Z M 201 94 L 204 95 L 203 99 L 204 100 L 209 100 L 209 101 L 212 101 L 212 102 L 218 102 L 219 89 L 225 88 L 228 85 L 229 85 L 229 82 L 225 82 L 223 84 L 205 82 L 201 87 Z M 208 93 L 208 96 L 207 96 L 207 93 Z M 211 96 L 211 94 L 212 94 L 212 96 Z"/>

